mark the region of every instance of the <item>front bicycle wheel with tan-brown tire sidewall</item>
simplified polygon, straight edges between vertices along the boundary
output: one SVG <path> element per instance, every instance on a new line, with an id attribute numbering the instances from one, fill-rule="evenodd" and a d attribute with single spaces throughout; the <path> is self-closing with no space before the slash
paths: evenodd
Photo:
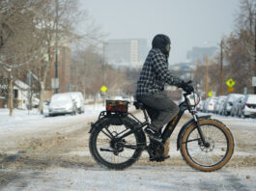
<path id="1" fill-rule="evenodd" d="M 216 120 L 202 120 L 199 125 L 208 146 L 204 146 L 195 123 L 190 124 L 181 139 L 182 156 L 194 169 L 205 172 L 218 170 L 233 155 L 233 135 L 225 124 Z"/>

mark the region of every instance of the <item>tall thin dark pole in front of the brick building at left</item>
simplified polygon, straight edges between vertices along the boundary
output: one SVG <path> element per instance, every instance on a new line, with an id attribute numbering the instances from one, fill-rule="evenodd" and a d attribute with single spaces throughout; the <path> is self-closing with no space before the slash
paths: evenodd
<path id="1" fill-rule="evenodd" d="M 59 63 L 58 63 L 58 10 L 59 10 L 59 2 L 58 0 L 55 1 L 56 3 L 56 40 L 55 40 L 55 43 L 56 43 L 56 46 L 55 46 L 55 57 L 56 57 L 56 62 L 55 62 L 55 90 L 54 90 L 54 93 L 57 94 L 58 93 L 58 86 L 59 86 L 59 83 L 57 81 L 58 80 L 58 67 L 59 67 Z"/>

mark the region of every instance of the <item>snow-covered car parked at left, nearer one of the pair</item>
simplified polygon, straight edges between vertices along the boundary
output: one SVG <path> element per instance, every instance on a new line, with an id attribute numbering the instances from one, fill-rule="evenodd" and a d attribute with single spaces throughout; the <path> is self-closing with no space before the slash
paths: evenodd
<path id="1" fill-rule="evenodd" d="M 76 104 L 69 94 L 55 94 L 49 102 L 49 116 L 76 114 Z"/>

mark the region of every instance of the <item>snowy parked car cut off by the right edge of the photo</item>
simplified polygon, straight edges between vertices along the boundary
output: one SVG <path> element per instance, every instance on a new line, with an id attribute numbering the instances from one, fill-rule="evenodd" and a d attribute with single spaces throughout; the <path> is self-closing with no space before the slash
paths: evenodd
<path id="1" fill-rule="evenodd" d="M 256 95 L 245 95 L 242 99 L 241 117 L 256 117 Z"/>

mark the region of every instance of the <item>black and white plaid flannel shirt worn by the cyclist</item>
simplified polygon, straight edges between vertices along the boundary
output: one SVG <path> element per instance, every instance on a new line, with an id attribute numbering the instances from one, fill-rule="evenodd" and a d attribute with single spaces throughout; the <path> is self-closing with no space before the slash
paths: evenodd
<path id="1" fill-rule="evenodd" d="M 182 80 L 168 69 L 166 56 L 157 48 L 150 50 L 140 72 L 136 96 L 161 93 L 165 83 L 179 86 Z"/>

